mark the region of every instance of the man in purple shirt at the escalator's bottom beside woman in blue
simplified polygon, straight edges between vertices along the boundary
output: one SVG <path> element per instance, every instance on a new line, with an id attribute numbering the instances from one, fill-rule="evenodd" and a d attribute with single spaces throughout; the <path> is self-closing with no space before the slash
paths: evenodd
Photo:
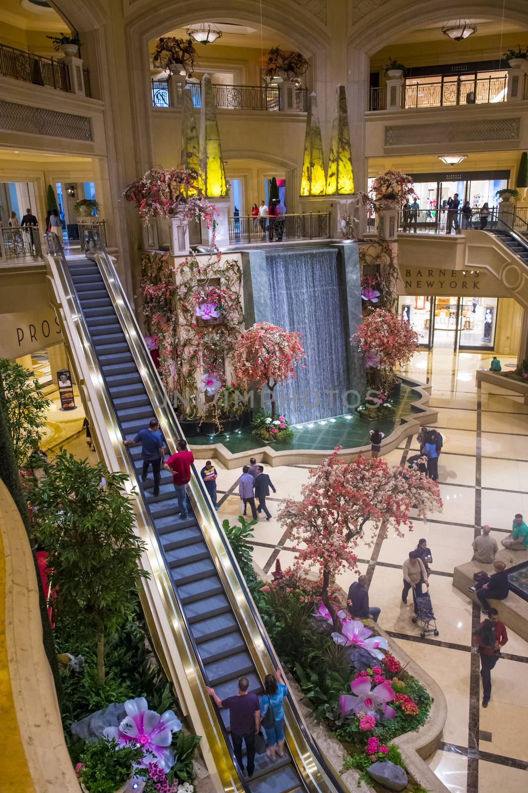
<path id="1" fill-rule="evenodd" d="M 214 688 L 208 688 L 207 693 L 212 696 L 212 699 L 215 700 L 218 707 L 228 708 L 233 751 L 241 771 L 244 770 L 242 741 L 245 741 L 247 776 L 251 779 L 254 772 L 254 737 L 260 729 L 260 705 L 258 703 L 258 696 L 249 693 L 247 691 L 248 688 L 249 680 L 247 680 L 247 677 L 241 677 L 239 679 L 239 692 L 235 696 L 228 696 L 227 699 L 220 699 L 220 697 L 215 694 Z"/>

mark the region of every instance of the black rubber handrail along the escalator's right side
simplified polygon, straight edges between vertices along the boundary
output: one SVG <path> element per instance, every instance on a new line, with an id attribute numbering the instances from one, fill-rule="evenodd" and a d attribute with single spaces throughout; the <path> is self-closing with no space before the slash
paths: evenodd
<path id="1" fill-rule="evenodd" d="M 104 245 L 102 245 L 100 239 L 98 239 L 97 232 L 94 232 L 94 236 L 92 237 L 92 239 L 90 239 L 90 247 L 92 248 L 92 251 L 94 253 L 97 253 L 97 254 L 101 255 L 103 261 L 105 262 L 106 266 L 109 269 L 109 274 L 111 275 L 111 278 L 113 278 L 113 284 L 108 284 L 109 288 L 112 289 L 112 287 L 113 287 L 113 289 L 116 289 L 120 293 L 120 297 L 121 297 L 121 300 L 124 302 L 124 305 L 128 306 L 128 312 L 129 312 L 130 318 L 132 320 L 132 324 L 134 326 L 134 329 L 136 331 L 136 334 L 137 334 L 138 338 L 140 339 L 140 345 L 137 345 L 135 347 L 135 349 L 138 352 L 138 354 L 140 355 L 141 362 L 142 362 L 143 366 L 145 366 L 147 368 L 147 370 L 149 370 L 149 380 L 151 381 L 151 384 L 155 385 L 155 389 L 158 392 L 158 397 L 161 397 L 161 400 L 156 400 L 155 402 L 153 400 L 153 404 L 155 404 L 155 405 L 158 404 L 159 408 L 163 408 L 163 407 L 166 408 L 167 406 L 169 406 L 170 409 L 168 411 L 166 411 L 166 415 L 164 416 L 164 418 L 171 425 L 171 430 L 173 431 L 173 434 L 174 434 L 174 431 L 175 431 L 176 437 L 184 439 L 185 436 L 182 433 L 182 429 L 181 429 L 181 427 L 179 425 L 178 418 L 175 416 L 174 408 L 173 408 L 172 404 L 170 404 L 170 400 L 168 399 L 168 397 L 166 395 L 166 391 L 163 388 L 163 383 L 161 381 L 161 378 L 159 377 L 159 372 L 156 370 L 156 368 L 154 366 L 154 363 L 152 362 L 151 354 L 147 350 L 147 347 L 146 347 L 146 345 L 144 343 L 143 334 L 142 334 L 142 331 L 140 330 L 139 324 L 137 323 L 136 316 L 135 316 L 134 312 L 132 311 L 132 307 L 128 303 L 128 297 L 126 297 L 126 295 L 124 293 L 124 289 L 123 289 L 123 287 L 121 285 L 121 281 L 117 277 L 117 274 L 116 274 L 116 272 L 114 270 L 113 263 L 109 259 L 109 255 L 108 255 L 107 251 L 105 250 Z M 90 251 L 87 250 L 86 251 L 86 255 L 90 258 Z M 103 277 L 104 277 L 105 276 L 104 272 L 102 274 L 103 274 Z M 144 385 L 147 386 L 148 384 L 145 383 Z M 147 391 L 148 391 L 148 389 L 147 389 Z M 239 587 L 242 589 L 243 594 L 245 596 L 245 599 L 247 601 L 247 605 L 249 607 L 249 611 L 251 613 L 251 617 L 252 617 L 254 623 L 256 623 L 257 626 L 258 626 L 258 632 L 260 634 L 260 638 L 262 639 L 262 643 L 263 643 L 263 645 L 266 648 L 266 652 L 267 652 L 268 656 L 270 657 L 270 660 L 272 661 L 273 669 L 270 670 L 270 668 L 267 668 L 267 670 L 266 670 L 266 666 L 265 666 L 265 671 L 267 671 L 268 673 L 270 671 L 274 672 L 274 670 L 280 664 L 279 664 L 278 658 L 277 658 L 277 656 L 276 656 L 276 654 L 274 652 L 273 646 L 272 646 L 272 644 L 270 642 L 270 638 L 268 637 L 268 634 L 266 632 L 266 628 L 265 628 L 265 626 L 262 623 L 262 619 L 261 619 L 260 615 L 258 614 L 257 607 L 254 604 L 253 598 L 251 597 L 251 592 L 249 592 L 249 590 L 247 588 L 246 580 L 243 577 L 242 571 L 239 569 L 238 562 L 236 561 L 235 555 L 233 554 L 233 551 L 231 549 L 231 545 L 228 542 L 228 538 L 226 537 L 226 535 L 224 533 L 224 530 L 220 526 L 220 523 L 218 523 L 218 520 L 217 520 L 217 517 L 216 517 L 216 511 L 212 507 L 212 502 L 211 502 L 211 500 L 209 498 L 209 494 L 207 493 L 205 485 L 201 481 L 201 477 L 198 475 L 197 470 L 196 470 L 194 465 L 193 465 L 193 473 L 194 473 L 194 485 L 197 485 L 197 488 L 201 491 L 201 494 L 202 494 L 202 496 L 204 497 L 204 500 L 205 500 L 205 504 L 207 505 L 207 508 L 209 508 L 209 516 L 212 519 L 212 522 L 216 525 L 216 531 L 217 531 L 218 536 L 221 539 L 224 552 L 229 558 L 229 561 L 231 563 L 231 568 L 233 569 L 233 571 L 235 573 L 235 577 L 237 579 L 237 583 L 239 584 Z M 212 555 L 213 555 L 213 560 L 214 560 L 214 554 L 212 554 Z M 220 570 L 218 572 L 220 572 Z M 239 614 L 237 614 L 237 612 L 235 610 L 234 610 L 234 613 L 235 613 L 235 618 L 238 619 Z M 184 619 L 185 619 L 185 617 L 184 617 Z M 243 635 L 244 635 L 244 632 L 243 632 Z M 190 634 L 190 639 L 191 639 L 191 642 L 193 642 L 192 634 Z M 261 659 L 261 661 L 262 661 L 262 659 Z M 325 758 L 323 757 L 323 753 L 322 753 L 321 749 L 319 749 L 319 746 L 317 745 L 315 739 L 312 737 L 312 735 L 309 733 L 307 727 L 304 725 L 304 719 L 302 718 L 302 716 L 301 716 L 301 714 L 300 714 L 300 712 L 299 712 L 299 710 L 297 708 L 297 703 L 295 703 L 295 701 L 293 699 L 293 696 L 291 694 L 288 694 L 288 702 L 289 702 L 289 707 L 291 708 L 291 710 L 293 712 L 293 716 L 295 718 L 295 722 L 297 722 L 297 727 L 300 730 L 304 741 L 307 743 L 308 748 L 312 752 L 313 756 L 316 758 L 316 760 L 317 760 L 318 764 L 320 765 L 320 767 L 323 769 L 323 772 L 324 772 L 325 776 L 329 777 L 329 779 L 331 780 L 330 787 L 333 788 L 336 791 L 336 793 L 344 793 L 344 791 L 346 791 L 346 788 L 342 787 L 342 784 L 340 783 L 339 779 L 336 778 L 337 777 L 336 772 L 333 769 L 331 769 L 331 767 L 327 763 L 327 760 L 325 760 Z M 220 718 L 220 725 L 222 725 L 222 724 L 223 724 L 223 720 Z M 229 744 L 229 741 L 228 741 L 228 744 Z M 299 770 L 299 768 L 297 768 L 297 770 Z M 301 775 L 301 779 L 302 778 L 304 778 L 304 777 Z M 315 783 L 315 780 L 312 780 L 312 781 Z"/>

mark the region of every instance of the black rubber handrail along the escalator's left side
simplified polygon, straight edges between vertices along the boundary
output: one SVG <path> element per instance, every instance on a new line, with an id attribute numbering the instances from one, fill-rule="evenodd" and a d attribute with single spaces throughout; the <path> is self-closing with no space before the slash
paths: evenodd
<path id="1" fill-rule="evenodd" d="M 45 235 L 45 237 L 46 237 L 46 242 L 48 243 L 48 253 L 50 253 L 50 255 L 52 255 L 52 256 L 55 256 L 55 257 L 61 259 L 61 262 L 63 264 L 63 277 L 65 279 L 65 282 L 67 282 L 68 288 L 70 290 L 70 297 L 71 297 L 71 299 L 73 301 L 75 301 L 75 305 L 76 305 L 76 310 L 78 312 L 78 316 L 82 316 L 83 319 L 86 322 L 86 317 L 84 317 L 84 315 L 83 315 L 81 305 L 80 305 L 80 303 L 78 301 L 78 297 L 77 297 L 77 294 L 75 292 L 75 286 L 71 282 L 71 276 L 70 276 L 69 270 L 67 268 L 67 260 L 66 260 L 66 257 L 64 255 L 63 246 L 62 246 L 59 238 L 55 235 L 55 233 L 48 233 L 48 234 Z M 111 266 L 111 262 L 109 262 L 109 264 Z M 117 276 L 116 276 L 116 282 L 117 282 L 117 280 L 118 279 L 117 279 Z M 110 291 L 109 291 L 109 296 L 110 296 Z M 85 327 L 87 328 L 87 325 Z M 98 362 L 96 362 L 96 361 L 94 361 L 94 368 L 96 368 L 98 370 L 98 375 L 101 377 L 101 380 L 105 383 L 105 393 L 108 395 L 109 394 L 109 389 L 108 389 L 109 387 L 108 387 L 107 381 L 105 379 L 105 375 L 101 371 L 100 367 L 98 366 Z M 156 408 L 156 405 L 154 405 L 154 409 L 155 408 Z M 123 434 L 122 430 L 121 430 L 121 422 L 119 421 L 119 419 L 115 415 L 115 412 L 113 410 L 113 405 L 112 405 L 112 403 L 111 403 L 111 401 L 109 399 L 108 399 L 108 411 L 112 413 L 115 424 L 120 428 L 120 433 L 119 434 L 121 436 Z M 130 481 L 132 483 L 132 488 L 133 489 L 135 488 L 135 490 L 136 490 L 136 495 L 140 496 L 140 501 L 141 501 L 141 505 L 142 505 L 142 508 L 143 508 L 143 513 L 145 513 L 145 512 L 147 513 L 147 519 L 148 519 L 148 522 L 150 523 L 150 526 L 151 526 L 151 532 L 156 537 L 157 535 L 156 535 L 156 532 L 155 532 L 155 527 L 154 527 L 154 523 L 153 523 L 153 517 L 152 517 L 152 514 L 151 514 L 150 505 L 148 504 L 148 502 L 147 502 L 147 500 L 145 498 L 141 497 L 140 488 L 137 487 L 137 485 L 139 483 L 138 483 L 137 478 L 136 478 L 136 466 L 134 465 L 134 462 L 133 462 L 133 459 L 132 459 L 132 454 L 131 454 L 130 450 L 128 449 L 128 447 L 124 447 L 124 450 L 126 450 L 126 452 L 127 452 L 127 457 L 128 457 L 128 462 L 129 462 L 128 471 L 126 473 L 128 473 L 128 477 L 130 478 Z M 196 642 L 194 642 L 193 634 L 192 634 L 192 632 L 190 630 L 190 626 L 189 626 L 188 620 L 186 618 L 185 611 L 183 610 L 181 600 L 178 597 L 178 593 L 175 592 L 175 589 L 174 589 L 174 580 L 172 579 L 172 577 L 170 575 L 170 569 L 168 568 L 168 566 L 166 564 L 166 556 L 163 553 L 163 549 L 161 548 L 161 546 L 159 546 L 159 543 L 156 543 L 156 544 L 159 547 L 159 554 L 160 554 L 160 557 L 163 560 L 163 565 L 164 565 L 164 567 L 166 569 L 167 578 L 170 580 L 171 591 L 172 591 L 172 594 L 174 596 L 174 600 L 176 600 L 176 602 L 178 603 L 178 620 L 179 620 L 180 623 L 182 623 L 182 626 L 185 627 L 186 636 L 187 636 L 188 642 L 189 642 L 190 646 L 193 649 L 193 664 L 195 665 L 195 667 L 197 667 L 200 670 L 202 679 L 203 680 L 207 680 L 207 675 L 205 673 L 205 668 L 204 668 L 204 666 L 202 664 L 201 657 L 200 657 L 199 653 L 197 653 Z M 224 739 L 226 739 L 226 731 L 225 731 L 224 722 L 223 722 L 222 718 L 219 716 L 218 708 L 216 708 L 216 705 L 214 703 L 212 703 L 212 701 L 209 699 L 209 697 L 207 698 L 206 701 L 208 702 L 212 713 L 215 714 L 216 723 L 217 723 L 217 726 L 218 726 L 218 731 L 221 734 L 223 734 Z M 231 757 L 231 760 L 233 762 L 233 765 L 234 765 L 234 769 L 233 770 L 238 769 L 239 768 L 238 763 L 237 763 L 237 761 L 235 759 L 235 755 L 233 753 L 231 744 L 230 744 L 230 742 L 228 740 L 225 740 L 225 746 L 226 746 L 226 749 L 228 750 L 228 753 L 229 753 L 229 755 Z M 232 776 L 233 775 L 231 775 L 231 777 Z M 243 774 L 240 773 L 238 770 L 235 771 L 235 778 L 236 778 L 237 782 L 239 783 L 239 787 L 235 787 L 235 790 L 237 790 L 237 791 L 238 790 L 243 790 L 244 793 L 251 793 L 250 788 L 247 786 L 246 781 L 243 779 Z"/>

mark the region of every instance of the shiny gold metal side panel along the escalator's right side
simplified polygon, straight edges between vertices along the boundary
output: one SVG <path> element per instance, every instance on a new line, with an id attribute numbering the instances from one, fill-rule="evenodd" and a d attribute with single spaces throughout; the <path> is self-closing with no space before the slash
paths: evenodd
<path id="1" fill-rule="evenodd" d="M 136 323 L 132 308 L 128 304 L 128 299 L 124 295 L 105 251 L 94 252 L 91 257 L 98 262 L 105 285 L 109 289 L 121 329 L 127 339 L 128 347 L 132 351 L 136 366 L 143 377 L 147 395 L 151 404 L 155 406 L 156 416 L 166 442 L 170 448 L 175 448 L 178 439 L 183 438 L 184 435 L 170 400 L 163 389 L 159 374 L 144 345 L 143 336 Z M 254 667 L 260 679 L 263 680 L 266 674 L 274 672 L 277 658 L 228 540 L 217 522 L 216 512 L 212 508 L 209 495 L 196 470 L 194 470 L 194 475 L 188 485 L 188 492 L 190 492 L 190 500 L 197 522 L 201 527 L 204 542 L 212 556 L 216 575 L 220 578 L 224 592 L 231 601 L 232 611 L 238 621 L 247 649 L 251 653 Z M 331 764 L 314 745 L 308 728 L 293 703 L 293 698 L 285 702 L 285 733 L 294 765 L 308 791 L 312 791 L 312 793 L 342 791 L 339 773 L 331 767 Z"/>

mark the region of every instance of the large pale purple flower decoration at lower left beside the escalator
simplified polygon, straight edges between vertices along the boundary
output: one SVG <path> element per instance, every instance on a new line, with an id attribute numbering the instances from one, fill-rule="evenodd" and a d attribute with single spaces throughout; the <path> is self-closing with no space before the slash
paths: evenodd
<path id="1" fill-rule="evenodd" d="M 119 727 L 106 727 L 103 731 L 105 738 L 115 738 L 120 744 L 134 743 L 145 752 L 148 750 L 155 755 L 160 768 L 170 771 L 174 765 L 174 752 L 167 747 L 172 743 L 172 734 L 182 729 L 182 722 L 173 711 L 165 711 L 162 716 L 149 711 L 143 696 L 127 699 L 124 710 L 127 718 L 123 719 Z M 144 766 L 151 762 L 152 757 L 148 754 L 141 760 Z"/>

